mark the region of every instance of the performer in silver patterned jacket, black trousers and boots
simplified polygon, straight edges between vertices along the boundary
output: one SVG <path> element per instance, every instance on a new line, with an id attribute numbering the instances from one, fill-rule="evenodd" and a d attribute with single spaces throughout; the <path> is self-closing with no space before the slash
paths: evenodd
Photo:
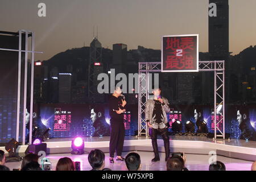
<path id="1" fill-rule="evenodd" d="M 155 158 L 152 162 L 160 160 L 158 153 L 158 134 L 162 135 L 164 140 L 164 149 L 166 152 L 166 161 L 169 158 L 170 153 L 170 138 L 168 135 L 168 120 L 166 113 L 170 112 L 169 102 L 167 98 L 161 96 L 160 86 L 153 89 L 154 99 L 147 100 L 145 109 L 145 119 L 148 127 L 152 130 L 151 140 L 154 150 Z"/>

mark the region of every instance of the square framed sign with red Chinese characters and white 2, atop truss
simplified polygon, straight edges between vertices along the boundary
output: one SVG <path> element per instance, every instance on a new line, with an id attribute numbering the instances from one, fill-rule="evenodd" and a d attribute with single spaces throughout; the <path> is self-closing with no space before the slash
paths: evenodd
<path id="1" fill-rule="evenodd" d="M 162 37 L 162 72 L 199 71 L 199 35 Z"/>

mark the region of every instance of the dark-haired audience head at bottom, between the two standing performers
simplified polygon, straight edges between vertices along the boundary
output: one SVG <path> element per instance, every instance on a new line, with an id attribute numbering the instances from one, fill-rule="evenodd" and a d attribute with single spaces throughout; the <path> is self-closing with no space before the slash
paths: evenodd
<path id="1" fill-rule="evenodd" d="M 126 156 L 125 164 L 129 171 L 141 171 L 141 157 L 135 152 Z"/>

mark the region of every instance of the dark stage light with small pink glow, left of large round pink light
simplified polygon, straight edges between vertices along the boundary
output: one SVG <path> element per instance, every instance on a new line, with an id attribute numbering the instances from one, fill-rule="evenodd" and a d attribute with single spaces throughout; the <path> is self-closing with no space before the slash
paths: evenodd
<path id="1" fill-rule="evenodd" d="M 30 153 L 38 155 L 39 151 L 47 152 L 47 144 L 42 142 L 43 142 L 42 138 L 33 138 L 32 144 L 28 145 L 25 151 L 25 155 Z"/>

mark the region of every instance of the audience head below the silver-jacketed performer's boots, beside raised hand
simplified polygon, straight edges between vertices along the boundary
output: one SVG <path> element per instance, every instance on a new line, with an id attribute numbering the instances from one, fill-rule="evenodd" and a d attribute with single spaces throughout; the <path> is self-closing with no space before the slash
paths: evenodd
<path id="1" fill-rule="evenodd" d="M 183 171 L 184 167 L 184 160 L 180 156 L 171 157 L 166 163 L 167 171 Z"/>

